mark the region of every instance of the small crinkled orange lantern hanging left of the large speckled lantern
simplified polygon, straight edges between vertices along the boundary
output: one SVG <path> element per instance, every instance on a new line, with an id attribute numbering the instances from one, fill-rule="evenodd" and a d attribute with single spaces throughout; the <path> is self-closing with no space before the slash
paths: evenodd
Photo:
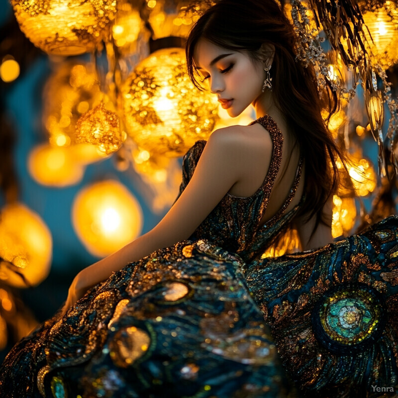
<path id="1" fill-rule="evenodd" d="M 95 145 L 108 155 L 117 151 L 125 137 L 119 126 L 119 116 L 105 109 L 101 102 L 76 123 L 76 142 Z"/>

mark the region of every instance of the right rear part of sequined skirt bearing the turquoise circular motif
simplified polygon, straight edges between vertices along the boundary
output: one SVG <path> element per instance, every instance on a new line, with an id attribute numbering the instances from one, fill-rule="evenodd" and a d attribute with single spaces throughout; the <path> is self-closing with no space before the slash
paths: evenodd
<path id="1" fill-rule="evenodd" d="M 398 217 L 390 216 L 322 248 L 246 265 L 303 396 L 376 398 L 372 386 L 398 387 L 397 242 Z"/>

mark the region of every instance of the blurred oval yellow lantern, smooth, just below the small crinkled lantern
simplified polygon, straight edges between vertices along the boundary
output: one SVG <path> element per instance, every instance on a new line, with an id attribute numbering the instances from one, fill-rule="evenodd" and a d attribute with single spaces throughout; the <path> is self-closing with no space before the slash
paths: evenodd
<path id="1" fill-rule="evenodd" d="M 84 175 L 84 167 L 69 148 L 49 144 L 41 144 L 30 152 L 28 169 L 36 182 L 50 187 L 78 184 Z"/>

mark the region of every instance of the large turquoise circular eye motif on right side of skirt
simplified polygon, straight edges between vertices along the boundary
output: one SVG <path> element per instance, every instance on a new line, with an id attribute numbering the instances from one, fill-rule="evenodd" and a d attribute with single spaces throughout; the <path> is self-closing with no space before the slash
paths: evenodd
<path id="1" fill-rule="evenodd" d="M 373 344 L 385 325 L 384 299 L 363 284 L 344 284 L 329 290 L 315 305 L 312 327 L 317 340 L 330 351 L 347 353 Z"/>

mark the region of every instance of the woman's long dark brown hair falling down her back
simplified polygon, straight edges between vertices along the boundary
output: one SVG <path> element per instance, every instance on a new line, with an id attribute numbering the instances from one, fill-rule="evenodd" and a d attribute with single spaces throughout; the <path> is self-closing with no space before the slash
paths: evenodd
<path id="1" fill-rule="evenodd" d="M 309 220 L 316 214 L 314 233 L 322 219 L 322 208 L 337 191 L 340 158 L 345 167 L 345 153 L 339 149 L 327 128 L 331 115 L 339 108 L 337 95 L 326 80 L 326 92 L 319 99 L 315 72 L 296 62 L 296 33 L 280 5 L 274 0 L 219 0 L 191 29 L 186 43 L 188 74 L 199 90 L 194 66 L 194 52 L 199 39 L 228 50 L 247 52 L 260 60 L 263 43 L 275 46 L 271 77 L 273 98 L 295 132 L 305 159 L 306 198 L 297 215 Z M 322 107 L 328 116 L 323 120 Z M 312 236 L 311 234 L 311 236 Z"/>

